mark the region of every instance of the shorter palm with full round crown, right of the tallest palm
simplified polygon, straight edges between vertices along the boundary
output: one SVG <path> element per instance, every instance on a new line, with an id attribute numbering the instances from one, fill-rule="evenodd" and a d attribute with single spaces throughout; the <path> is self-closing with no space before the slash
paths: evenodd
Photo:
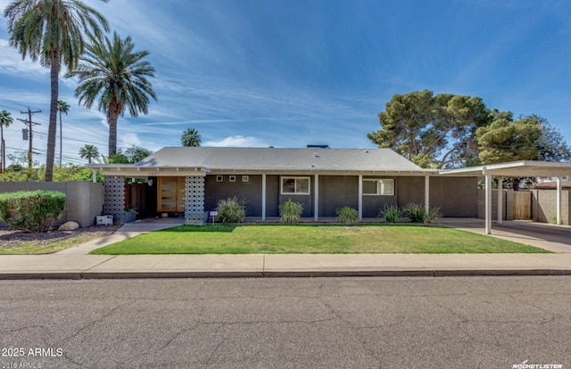
<path id="1" fill-rule="evenodd" d="M 154 68 L 144 61 L 147 51 L 134 52 L 131 37 L 113 39 L 91 37 L 91 45 L 81 57 L 79 67 L 65 75 L 79 78 L 75 96 L 79 103 L 107 113 L 109 123 L 109 156 L 117 152 L 117 119 L 128 110 L 131 117 L 139 111 L 148 113 L 149 97 L 157 100 L 153 85 L 147 77 L 154 77 Z"/>

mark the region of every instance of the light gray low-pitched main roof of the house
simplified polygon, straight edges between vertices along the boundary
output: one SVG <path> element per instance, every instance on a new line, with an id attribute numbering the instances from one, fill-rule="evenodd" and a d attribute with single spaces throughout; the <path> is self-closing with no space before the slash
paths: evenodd
<path id="1" fill-rule="evenodd" d="M 91 165 L 103 170 L 198 168 L 205 172 L 391 172 L 423 174 L 426 169 L 390 149 L 165 147 L 134 165 Z M 142 173 L 141 173 L 142 174 Z"/>

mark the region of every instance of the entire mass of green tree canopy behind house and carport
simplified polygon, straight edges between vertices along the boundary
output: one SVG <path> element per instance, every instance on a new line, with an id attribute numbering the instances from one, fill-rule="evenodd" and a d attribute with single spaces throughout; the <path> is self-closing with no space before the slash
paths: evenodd
<path id="1" fill-rule="evenodd" d="M 456 168 L 513 160 L 569 160 L 571 150 L 546 119 L 513 119 L 481 98 L 414 91 L 395 94 L 368 134 L 422 168 Z"/>

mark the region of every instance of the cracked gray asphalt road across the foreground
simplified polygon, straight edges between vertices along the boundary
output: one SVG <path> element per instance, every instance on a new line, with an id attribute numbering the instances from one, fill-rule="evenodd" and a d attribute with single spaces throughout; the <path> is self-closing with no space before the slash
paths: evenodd
<path id="1" fill-rule="evenodd" d="M 567 276 L 0 281 L 0 294 L 0 369 L 571 368 Z"/>

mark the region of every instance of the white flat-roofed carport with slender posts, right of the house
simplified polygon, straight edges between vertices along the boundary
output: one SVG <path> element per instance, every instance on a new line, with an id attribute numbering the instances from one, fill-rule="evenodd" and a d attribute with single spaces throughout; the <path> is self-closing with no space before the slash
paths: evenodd
<path id="1" fill-rule="evenodd" d="M 485 178 L 485 234 L 492 233 L 492 176 L 498 178 L 498 190 L 503 189 L 503 178 L 541 176 L 557 178 L 557 224 L 561 224 L 561 177 L 571 175 L 571 162 L 512 161 L 479 167 L 444 169 L 442 176 L 484 176 Z M 501 196 L 498 196 L 498 223 L 502 222 Z"/>

